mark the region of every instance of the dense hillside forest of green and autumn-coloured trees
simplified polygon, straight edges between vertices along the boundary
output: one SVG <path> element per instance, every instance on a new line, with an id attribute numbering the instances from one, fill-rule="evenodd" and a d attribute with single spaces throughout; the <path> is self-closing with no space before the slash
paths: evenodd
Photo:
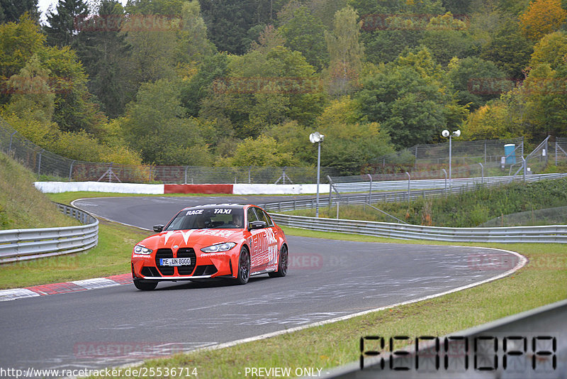
<path id="1" fill-rule="evenodd" d="M 417 143 L 567 136 L 567 0 L 0 0 L 0 116 L 120 164 L 357 174 Z"/>

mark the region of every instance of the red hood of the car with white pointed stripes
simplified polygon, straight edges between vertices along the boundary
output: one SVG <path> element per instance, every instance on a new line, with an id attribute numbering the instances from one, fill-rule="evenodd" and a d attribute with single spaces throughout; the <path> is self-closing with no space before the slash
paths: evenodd
<path id="1" fill-rule="evenodd" d="M 147 248 L 174 248 L 173 246 L 193 247 L 210 246 L 215 243 L 234 241 L 242 231 L 226 229 L 190 229 L 176 231 L 162 231 L 160 234 L 150 236 L 138 243 Z"/>

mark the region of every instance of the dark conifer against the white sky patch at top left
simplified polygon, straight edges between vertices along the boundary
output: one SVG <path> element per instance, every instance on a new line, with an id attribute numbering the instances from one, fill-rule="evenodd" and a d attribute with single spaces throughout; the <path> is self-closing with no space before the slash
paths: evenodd
<path id="1" fill-rule="evenodd" d="M 72 46 L 77 43 L 78 21 L 89 15 L 85 0 L 59 0 L 55 12 L 47 12 L 45 34 L 47 43 L 52 46 Z"/>

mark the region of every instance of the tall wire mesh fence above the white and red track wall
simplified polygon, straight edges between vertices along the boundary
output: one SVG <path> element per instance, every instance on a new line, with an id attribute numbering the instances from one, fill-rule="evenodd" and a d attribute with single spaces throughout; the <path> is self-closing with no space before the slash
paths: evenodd
<path id="1" fill-rule="evenodd" d="M 0 119 L 0 151 L 11 155 L 38 178 L 67 181 L 136 183 L 315 183 L 316 167 L 197 167 L 163 165 L 116 165 L 72 160 L 40 148 Z M 337 175 L 322 167 L 322 175 Z"/>

